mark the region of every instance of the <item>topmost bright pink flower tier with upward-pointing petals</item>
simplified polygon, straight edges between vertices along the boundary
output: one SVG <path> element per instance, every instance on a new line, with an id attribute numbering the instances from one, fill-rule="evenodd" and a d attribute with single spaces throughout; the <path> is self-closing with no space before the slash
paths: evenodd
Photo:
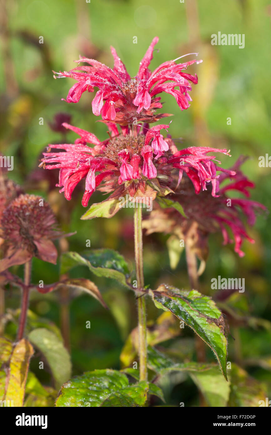
<path id="1" fill-rule="evenodd" d="M 201 60 L 176 64 L 176 61 L 183 57 L 181 56 L 164 62 L 151 72 L 149 65 L 157 42 L 158 38 L 155 37 L 140 62 L 137 75 L 132 78 L 114 47 L 111 47 L 114 57 L 113 70 L 97 60 L 81 57 L 76 62 L 84 62 L 89 66 L 78 66 L 68 72 L 55 73 L 57 77 L 71 77 L 76 80 L 66 101 L 78 103 L 83 92 L 94 92 L 96 88 L 92 100 L 94 115 L 101 115 L 103 120 L 114 121 L 124 126 L 132 124 L 134 120 L 150 123 L 167 116 L 155 115 L 156 109 L 162 108 L 161 97 L 157 97 L 161 92 L 171 94 L 181 110 L 187 109 L 192 100 L 189 95 L 191 83 L 197 83 L 197 76 L 187 74 L 184 70 L 194 62 L 200 63 Z"/>

